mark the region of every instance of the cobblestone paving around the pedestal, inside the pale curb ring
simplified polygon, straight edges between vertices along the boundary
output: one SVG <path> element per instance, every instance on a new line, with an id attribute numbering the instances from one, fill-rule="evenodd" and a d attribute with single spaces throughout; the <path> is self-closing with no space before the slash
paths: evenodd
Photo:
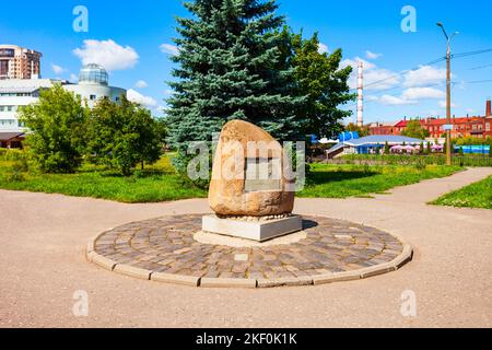
<path id="1" fill-rule="evenodd" d="M 307 237 L 289 245 L 233 248 L 194 240 L 202 215 L 129 223 L 103 234 L 95 252 L 117 264 L 199 278 L 278 279 L 359 270 L 403 249 L 388 233 L 345 221 L 304 217 Z"/>

